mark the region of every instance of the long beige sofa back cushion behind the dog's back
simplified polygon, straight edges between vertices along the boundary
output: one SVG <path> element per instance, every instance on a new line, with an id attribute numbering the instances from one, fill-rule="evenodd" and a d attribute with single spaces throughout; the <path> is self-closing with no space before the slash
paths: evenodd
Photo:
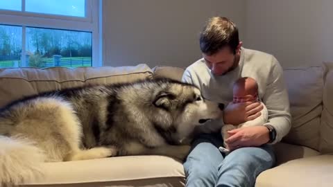
<path id="1" fill-rule="evenodd" d="M 151 78 L 153 72 L 146 64 L 137 66 L 103 66 L 0 69 L 0 107 L 12 100 L 43 91 L 79 87 L 87 84 L 130 82 Z"/>

